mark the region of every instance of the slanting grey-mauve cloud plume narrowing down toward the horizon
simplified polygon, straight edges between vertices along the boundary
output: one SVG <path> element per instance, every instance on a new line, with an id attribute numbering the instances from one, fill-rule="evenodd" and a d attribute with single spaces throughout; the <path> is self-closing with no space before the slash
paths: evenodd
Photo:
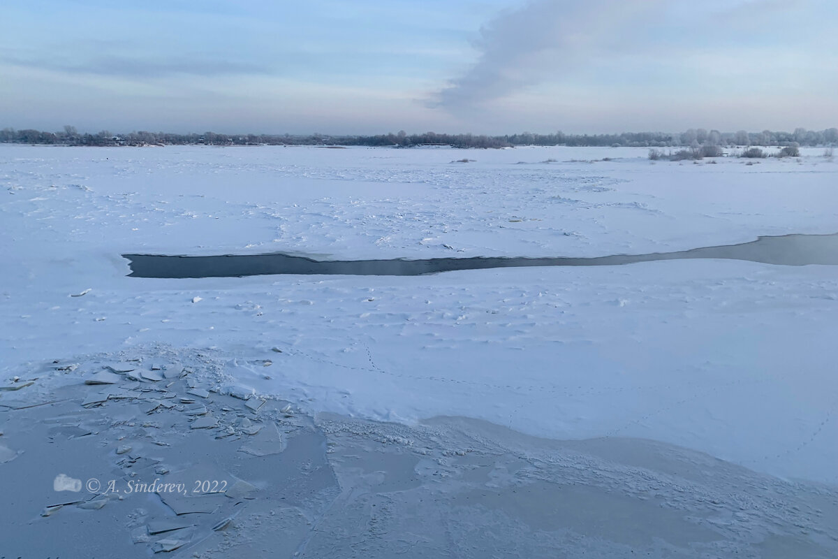
<path id="1" fill-rule="evenodd" d="M 458 109 L 555 79 L 603 51 L 642 40 L 663 0 L 535 0 L 480 30 L 479 56 L 430 106 Z"/>

